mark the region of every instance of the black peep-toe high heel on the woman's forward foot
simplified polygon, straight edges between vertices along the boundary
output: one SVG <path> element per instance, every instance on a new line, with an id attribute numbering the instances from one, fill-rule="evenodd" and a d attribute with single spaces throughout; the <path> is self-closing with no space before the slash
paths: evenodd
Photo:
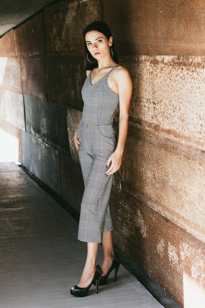
<path id="1" fill-rule="evenodd" d="M 88 291 L 89 291 L 92 284 L 96 285 L 96 293 L 98 293 L 98 286 L 99 286 L 99 280 L 101 278 L 101 275 L 102 275 L 102 270 L 101 270 L 100 265 L 98 264 L 96 266 L 96 270 L 95 270 L 93 279 L 92 279 L 91 283 L 89 284 L 89 286 L 87 286 L 85 288 L 80 288 L 76 285 L 76 286 L 74 286 L 74 290 L 70 289 L 70 294 L 78 296 L 78 297 L 84 297 L 88 294 Z"/>

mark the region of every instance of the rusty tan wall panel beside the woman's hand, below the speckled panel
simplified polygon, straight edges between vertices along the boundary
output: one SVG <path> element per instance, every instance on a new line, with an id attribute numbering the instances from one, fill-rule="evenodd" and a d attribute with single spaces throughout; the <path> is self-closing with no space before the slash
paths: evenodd
<path id="1" fill-rule="evenodd" d="M 203 151 L 130 125 L 122 157 L 122 189 L 205 241 L 204 158 Z"/>

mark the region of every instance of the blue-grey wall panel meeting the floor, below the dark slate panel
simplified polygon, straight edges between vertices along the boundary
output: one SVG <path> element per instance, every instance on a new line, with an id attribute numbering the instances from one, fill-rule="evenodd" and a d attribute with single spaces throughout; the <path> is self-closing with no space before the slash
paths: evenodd
<path id="1" fill-rule="evenodd" d="M 22 164 L 61 195 L 58 152 L 50 145 L 22 131 Z"/>

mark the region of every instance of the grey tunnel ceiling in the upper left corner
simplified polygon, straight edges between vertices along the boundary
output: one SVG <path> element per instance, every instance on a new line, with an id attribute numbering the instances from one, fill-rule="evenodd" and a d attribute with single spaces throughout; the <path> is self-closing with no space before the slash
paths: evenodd
<path id="1" fill-rule="evenodd" d="M 1 0 L 0 1 L 0 37 L 22 23 L 44 6 L 57 2 L 51 0 Z"/>

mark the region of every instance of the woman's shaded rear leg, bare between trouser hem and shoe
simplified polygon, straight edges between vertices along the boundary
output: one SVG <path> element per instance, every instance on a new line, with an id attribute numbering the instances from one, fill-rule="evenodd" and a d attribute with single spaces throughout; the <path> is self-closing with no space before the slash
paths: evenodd
<path id="1" fill-rule="evenodd" d="M 104 272 L 103 273 L 103 276 L 104 276 L 108 273 L 108 270 L 110 266 L 112 265 L 112 261 L 114 259 L 113 258 L 114 250 L 113 250 L 113 243 L 112 243 L 112 231 L 103 233 L 102 245 L 103 245 L 103 262 L 102 262 L 101 269 Z"/>

